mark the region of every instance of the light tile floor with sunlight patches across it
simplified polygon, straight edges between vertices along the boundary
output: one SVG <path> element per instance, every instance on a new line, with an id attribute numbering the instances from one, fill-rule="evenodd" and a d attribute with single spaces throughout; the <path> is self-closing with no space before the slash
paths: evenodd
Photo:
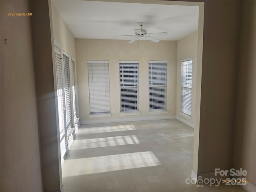
<path id="1" fill-rule="evenodd" d="M 178 120 L 81 125 L 62 166 L 65 192 L 242 192 L 186 184 L 194 129 Z"/>

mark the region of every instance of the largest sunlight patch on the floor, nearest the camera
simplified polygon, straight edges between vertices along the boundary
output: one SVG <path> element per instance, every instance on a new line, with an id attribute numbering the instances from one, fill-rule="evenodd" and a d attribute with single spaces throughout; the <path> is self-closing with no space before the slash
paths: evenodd
<path id="1" fill-rule="evenodd" d="M 66 169 L 65 167 L 70 166 L 70 164 L 79 164 L 80 166 L 75 166 L 72 170 Z M 65 160 L 62 176 L 70 177 L 159 165 L 161 165 L 161 163 L 152 151 L 106 155 Z"/>

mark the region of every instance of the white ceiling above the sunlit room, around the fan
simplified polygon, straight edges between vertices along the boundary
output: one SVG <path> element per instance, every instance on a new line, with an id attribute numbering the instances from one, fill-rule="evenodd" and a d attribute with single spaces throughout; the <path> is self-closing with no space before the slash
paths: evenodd
<path id="1" fill-rule="evenodd" d="M 74 38 L 120 39 L 114 37 L 135 34 L 144 22 L 148 33 L 168 32 L 154 36 L 159 40 L 179 40 L 198 30 L 198 6 L 98 2 L 86 0 L 53 0 L 61 18 Z"/>

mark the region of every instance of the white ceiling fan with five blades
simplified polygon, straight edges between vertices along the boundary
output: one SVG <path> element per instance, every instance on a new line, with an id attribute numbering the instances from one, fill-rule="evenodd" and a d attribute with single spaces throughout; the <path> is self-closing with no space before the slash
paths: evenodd
<path id="1" fill-rule="evenodd" d="M 150 41 L 153 41 L 155 43 L 159 42 L 160 40 L 151 37 L 151 35 L 168 35 L 168 33 L 166 32 L 162 32 L 162 33 L 148 33 L 148 31 L 146 29 L 142 29 L 143 26 L 143 22 L 139 22 L 138 23 L 140 25 L 140 29 L 134 29 L 135 30 L 135 35 L 117 35 L 114 37 L 122 37 L 122 36 L 130 36 L 130 37 L 135 37 L 132 40 L 130 40 L 128 43 L 133 43 L 134 41 L 138 40 L 139 38 L 146 38 Z"/>

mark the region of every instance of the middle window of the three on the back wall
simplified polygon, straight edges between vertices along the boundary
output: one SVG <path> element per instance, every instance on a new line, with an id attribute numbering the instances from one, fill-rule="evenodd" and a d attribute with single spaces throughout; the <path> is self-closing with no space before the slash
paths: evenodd
<path id="1" fill-rule="evenodd" d="M 121 112 L 138 111 L 139 62 L 119 61 Z"/>

